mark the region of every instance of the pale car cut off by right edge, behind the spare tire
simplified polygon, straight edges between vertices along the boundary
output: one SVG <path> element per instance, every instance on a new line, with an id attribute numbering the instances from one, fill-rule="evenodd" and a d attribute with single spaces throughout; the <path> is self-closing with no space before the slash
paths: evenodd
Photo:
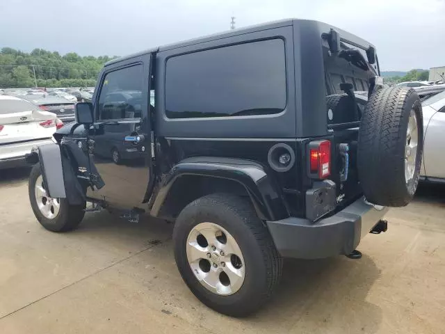
<path id="1" fill-rule="evenodd" d="M 445 91 L 422 102 L 423 166 L 421 177 L 445 183 Z"/>

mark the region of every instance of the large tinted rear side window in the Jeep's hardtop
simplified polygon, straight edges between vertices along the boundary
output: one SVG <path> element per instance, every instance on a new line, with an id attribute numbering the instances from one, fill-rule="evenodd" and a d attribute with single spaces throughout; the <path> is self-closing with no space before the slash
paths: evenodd
<path id="1" fill-rule="evenodd" d="M 168 118 L 263 115 L 286 106 L 280 39 L 176 56 L 165 71 Z"/>

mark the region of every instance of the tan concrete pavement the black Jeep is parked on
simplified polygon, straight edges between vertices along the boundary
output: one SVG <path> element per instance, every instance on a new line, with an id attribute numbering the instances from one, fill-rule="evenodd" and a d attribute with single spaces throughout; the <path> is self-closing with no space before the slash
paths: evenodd
<path id="1" fill-rule="evenodd" d="M 445 333 L 444 187 L 392 209 L 362 260 L 288 260 L 275 299 L 233 319 L 181 280 L 172 225 L 87 214 L 78 230 L 44 230 L 26 172 L 0 176 L 0 333 Z"/>

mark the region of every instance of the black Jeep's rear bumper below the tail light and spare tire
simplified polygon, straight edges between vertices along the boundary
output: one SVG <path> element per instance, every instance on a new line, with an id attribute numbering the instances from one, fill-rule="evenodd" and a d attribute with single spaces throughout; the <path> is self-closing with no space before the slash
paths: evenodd
<path id="1" fill-rule="evenodd" d="M 360 198 L 341 212 L 315 223 L 289 217 L 268 221 L 267 225 L 283 257 L 318 259 L 350 254 L 387 211 L 387 207 L 376 209 Z"/>

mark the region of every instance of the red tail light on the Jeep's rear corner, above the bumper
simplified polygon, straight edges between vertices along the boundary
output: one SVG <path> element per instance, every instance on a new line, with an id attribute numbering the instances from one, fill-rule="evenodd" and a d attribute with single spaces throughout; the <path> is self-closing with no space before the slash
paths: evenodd
<path id="1" fill-rule="evenodd" d="M 331 175 L 331 142 L 309 143 L 309 177 L 325 179 Z"/>

